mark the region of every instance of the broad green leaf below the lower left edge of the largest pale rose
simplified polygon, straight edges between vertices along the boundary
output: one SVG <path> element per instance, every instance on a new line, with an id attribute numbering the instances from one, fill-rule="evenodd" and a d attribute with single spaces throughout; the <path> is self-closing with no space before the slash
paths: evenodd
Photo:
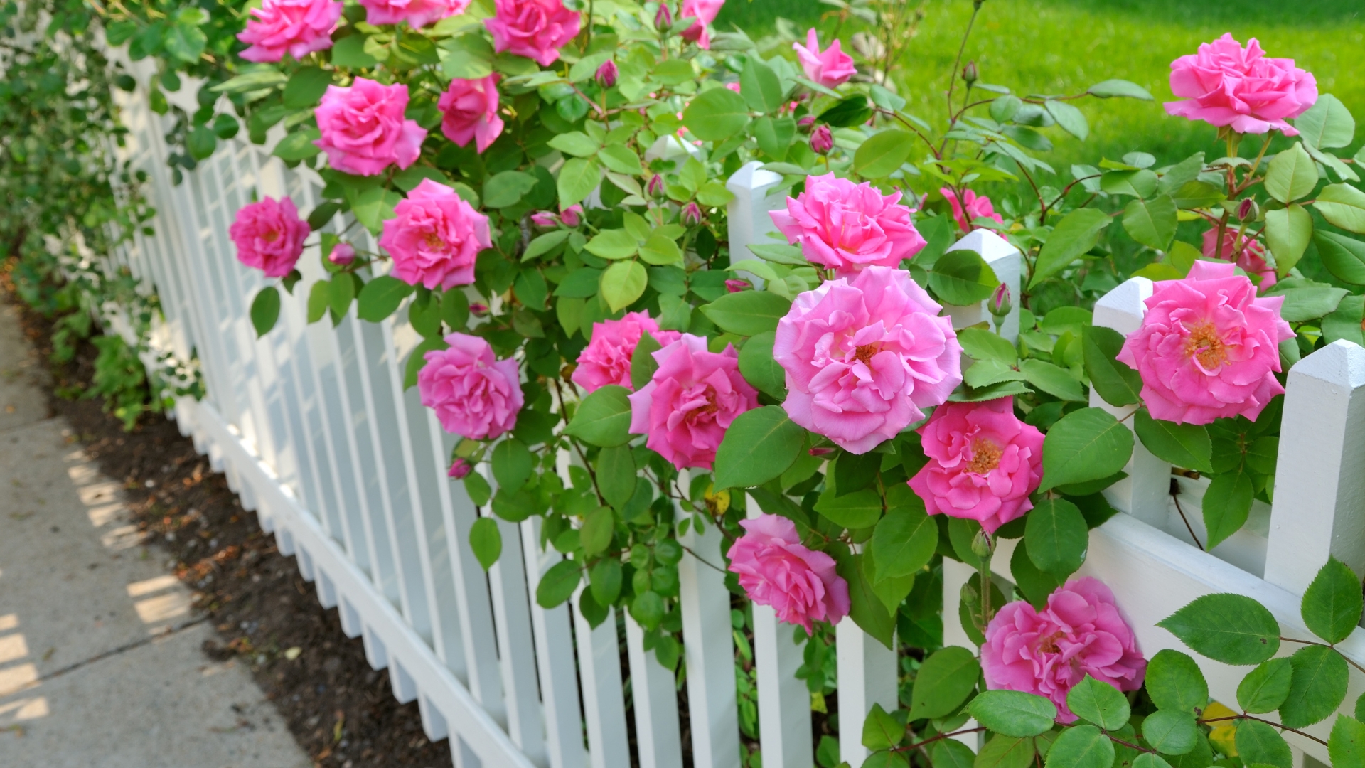
<path id="1" fill-rule="evenodd" d="M 804 435 L 782 406 L 741 413 L 715 451 L 715 488 L 748 488 L 781 476 L 801 452 Z"/>

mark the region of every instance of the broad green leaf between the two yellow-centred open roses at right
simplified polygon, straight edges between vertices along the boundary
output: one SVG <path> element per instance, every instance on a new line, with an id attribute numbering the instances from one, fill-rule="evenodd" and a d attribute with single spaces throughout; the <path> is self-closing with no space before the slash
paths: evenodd
<path id="1" fill-rule="evenodd" d="M 1063 415 L 1043 440 L 1039 491 L 1100 480 L 1118 473 L 1133 455 L 1133 433 L 1102 409 Z"/>

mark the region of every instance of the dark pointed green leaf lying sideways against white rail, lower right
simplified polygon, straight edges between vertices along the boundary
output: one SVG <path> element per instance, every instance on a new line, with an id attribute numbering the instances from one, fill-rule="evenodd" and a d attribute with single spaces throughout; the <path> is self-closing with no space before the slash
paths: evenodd
<path id="1" fill-rule="evenodd" d="M 1205 594 L 1156 626 L 1224 664 L 1260 664 L 1279 650 L 1279 622 L 1242 594 Z"/>

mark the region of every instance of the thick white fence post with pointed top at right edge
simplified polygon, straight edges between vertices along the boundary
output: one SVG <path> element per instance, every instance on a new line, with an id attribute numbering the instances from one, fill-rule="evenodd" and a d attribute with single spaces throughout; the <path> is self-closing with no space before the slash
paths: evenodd
<path id="1" fill-rule="evenodd" d="M 1365 350 L 1334 342 L 1289 372 L 1265 581 L 1302 594 L 1328 555 L 1365 575 Z"/>

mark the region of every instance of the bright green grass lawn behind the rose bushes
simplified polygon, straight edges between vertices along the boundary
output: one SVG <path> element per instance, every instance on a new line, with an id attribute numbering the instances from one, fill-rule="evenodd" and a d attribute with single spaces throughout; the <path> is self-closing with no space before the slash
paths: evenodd
<path id="1" fill-rule="evenodd" d="M 801 29 L 820 25 L 827 30 L 833 20 L 820 22 L 820 15 L 829 10 L 816 0 L 728 0 L 717 26 L 736 23 L 759 36 L 782 16 Z M 908 109 L 942 124 L 943 90 L 972 3 L 927 0 L 924 11 L 898 79 Z M 841 37 L 859 29 L 864 26 L 845 26 Z M 1212 127 L 1170 118 L 1160 102 L 1173 98 L 1171 60 L 1224 31 L 1244 44 L 1257 37 L 1269 56 L 1294 59 L 1314 74 L 1321 93 L 1335 94 L 1365 120 L 1365 78 L 1351 75 L 1365 72 L 1365 3 L 1360 0 L 987 0 L 965 59 L 977 61 L 983 82 L 1021 94 L 1077 93 L 1107 78 L 1123 78 L 1156 97 L 1074 102 L 1091 120 L 1091 137 L 1081 142 L 1061 128 L 1047 131 L 1057 149 L 1043 159 L 1058 171 L 1134 149 L 1174 163 L 1198 150 L 1209 157 L 1223 153 Z M 1360 139 L 1351 152 L 1358 145 Z M 1254 139 L 1248 141 L 1244 153 L 1254 156 L 1257 148 Z"/>

